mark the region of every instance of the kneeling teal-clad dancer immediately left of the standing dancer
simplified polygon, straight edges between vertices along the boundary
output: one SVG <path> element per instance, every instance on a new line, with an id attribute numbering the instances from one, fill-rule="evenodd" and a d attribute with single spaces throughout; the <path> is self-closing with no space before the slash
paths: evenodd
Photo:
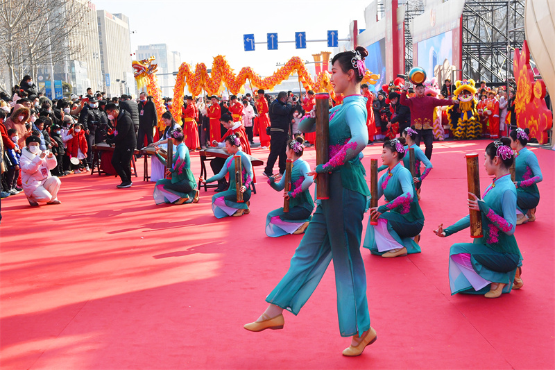
<path id="1" fill-rule="evenodd" d="M 309 187 L 314 180 L 308 176 L 310 166 L 302 160 L 302 152 L 305 150 L 302 137 L 287 142 L 287 159 L 293 160 L 291 169 L 291 187 L 284 198 L 289 199 L 289 212 L 283 212 L 283 207 L 273 210 L 266 216 L 266 235 L 268 237 L 280 237 L 287 234 L 302 234 L 310 221 L 310 215 L 314 210 L 314 202 L 309 192 Z M 268 178 L 268 184 L 278 192 L 285 187 L 286 173 L 281 177 L 279 183 L 275 180 L 281 175 Z"/>

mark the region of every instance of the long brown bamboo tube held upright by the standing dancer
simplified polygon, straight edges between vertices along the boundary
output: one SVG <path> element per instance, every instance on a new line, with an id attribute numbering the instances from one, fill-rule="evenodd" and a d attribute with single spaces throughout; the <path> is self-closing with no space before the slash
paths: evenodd
<path id="1" fill-rule="evenodd" d="M 316 165 L 325 165 L 329 158 L 330 144 L 330 94 L 316 94 Z M 330 176 L 316 177 L 316 199 L 330 199 Z"/>

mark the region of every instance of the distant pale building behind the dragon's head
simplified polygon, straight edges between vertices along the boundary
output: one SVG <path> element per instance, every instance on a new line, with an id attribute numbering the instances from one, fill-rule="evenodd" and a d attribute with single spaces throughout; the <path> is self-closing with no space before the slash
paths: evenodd
<path id="1" fill-rule="evenodd" d="M 158 67 L 158 82 L 162 89 L 162 96 L 173 97 L 173 85 L 176 84 L 176 76 L 171 75 L 177 72 L 181 65 L 181 54 L 178 51 L 168 51 L 167 44 L 139 45 L 135 53 L 137 60 L 148 59 L 154 56 L 153 63 Z"/>

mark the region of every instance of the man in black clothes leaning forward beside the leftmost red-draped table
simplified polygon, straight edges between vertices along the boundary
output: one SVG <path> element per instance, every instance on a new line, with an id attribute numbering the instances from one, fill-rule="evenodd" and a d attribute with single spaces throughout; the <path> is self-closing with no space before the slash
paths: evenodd
<path id="1" fill-rule="evenodd" d="M 108 144 L 116 144 L 114 155 L 112 156 L 112 166 L 121 178 L 121 184 L 117 187 L 130 187 L 131 182 L 131 157 L 137 145 L 137 137 L 133 130 L 133 120 L 131 115 L 125 110 L 119 110 L 114 104 L 106 105 L 108 119 L 114 122 L 115 131 L 106 139 Z"/>

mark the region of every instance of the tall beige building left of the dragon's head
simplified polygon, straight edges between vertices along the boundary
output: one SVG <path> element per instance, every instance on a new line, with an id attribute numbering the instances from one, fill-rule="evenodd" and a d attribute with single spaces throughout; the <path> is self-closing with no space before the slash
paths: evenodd
<path id="1" fill-rule="evenodd" d="M 135 95 L 131 67 L 129 19 L 123 14 L 97 10 L 103 91 L 108 96 Z"/>

